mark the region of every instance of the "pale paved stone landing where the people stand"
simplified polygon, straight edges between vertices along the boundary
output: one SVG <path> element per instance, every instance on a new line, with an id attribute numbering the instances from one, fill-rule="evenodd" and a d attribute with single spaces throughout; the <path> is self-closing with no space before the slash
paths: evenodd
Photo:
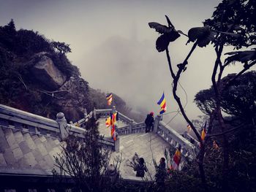
<path id="1" fill-rule="evenodd" d="M 99 133 L 105 136 L 110 135 L 110 128 L 106 128 L 105 126 L 105 118 L 99 118 Z M 125 123 L 119 123 L 118 128 L 122 128 L 127 126 Z M 169 148 L 170 144 L 166 142 L 164 139 L 159 137 L 157 134 L 153 132 L 145 133 L 138 132 L 135 134 L 126 134 L 120 135 L 120 146 L 118 152 L 113 152 L 111 157 L 115 158 L 117 155 L 121 155 L 123 158 L 123 162 L 120 166 L 121 177 L 135 179 L 136 172 L 133 171 L 132 167 L 127 166 L 127 163 L 132 160 L 133 155 L 138 153 L 138 155 L 144 158 L 146 162 L 146 166 L 148 168 L 148 173 L 146 176 L 148 178 L 154 177 L 156 174 L 156 170 L 153 164 L 153 158 L 159 164 L 159 159 L 164 157 L 165 148 Z"/>

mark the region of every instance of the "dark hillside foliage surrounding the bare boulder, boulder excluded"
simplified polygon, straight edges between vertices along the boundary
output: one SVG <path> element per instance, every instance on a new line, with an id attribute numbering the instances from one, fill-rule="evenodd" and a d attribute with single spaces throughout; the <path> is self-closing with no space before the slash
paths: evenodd
<path id="1" fill-rule="evenodd" d="M 54 42 L 53 42 L 54 44 Z M 67 113 L 68 120 L 83 118 L 83 110 L 88 106 L 88 82 L 80 77 L 79 69 L 72 66 L 64 53 L 70 51 L 69 46 L 60 43 L 59 51 L 55 52 L 48 39 L 34 31 L 20 29 L 16 31 L 13 20 L 7 26 L 0 27 L 0 99 L 1 103 L 20 110 L 33 112 L 48 118 L 56 118 L 56 113 Z M 34 80 L 30 68 L 31 59 L 39 59 L 36 53 L 46 52 L 53 64 L 67 76 L 70 91 L 74 93 L 47 93 Z M 62 91 L 62 90 L 61 90 Z M 82 97 L 82 98 L 80 98 Z M 70 112 L 64 101 L 73 103 L 75 110 Z M 69 102 L 70 104 L 70 102 Z M 76 105 L 75 105 L 76 104 Z M 79 106 L 79 107 L 78 107 Z M 75 117 L 72 115 L 75 113 Z"/>

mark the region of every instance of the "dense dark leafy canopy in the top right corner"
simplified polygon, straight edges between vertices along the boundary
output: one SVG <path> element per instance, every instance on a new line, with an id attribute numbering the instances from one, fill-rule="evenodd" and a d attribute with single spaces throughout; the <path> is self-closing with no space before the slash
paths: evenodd
<path id="1" fill-rule="evenodd" d="M 214 11 L 212 18 L 204 22 L 214 31 L 237 35 L 224 35 L 222 41 L 236 49 L 256 43 L 255 0 L 225 0 Z"/>

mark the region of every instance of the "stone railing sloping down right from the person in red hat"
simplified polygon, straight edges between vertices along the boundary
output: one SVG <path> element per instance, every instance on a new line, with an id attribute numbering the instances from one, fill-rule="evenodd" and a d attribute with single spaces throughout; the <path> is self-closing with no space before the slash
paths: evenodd
<path id="1" fill-rule="evenodd" d="M 188 158 L 195 158 L 197 147 L 187 139 L 178 134 L 173 128 L 170 128 L 161 120 L 161 116 L 157 116 L 154 123 L 154 132 L 165 139 L 173 147 L 181 147 L 181 154 Z"/>

